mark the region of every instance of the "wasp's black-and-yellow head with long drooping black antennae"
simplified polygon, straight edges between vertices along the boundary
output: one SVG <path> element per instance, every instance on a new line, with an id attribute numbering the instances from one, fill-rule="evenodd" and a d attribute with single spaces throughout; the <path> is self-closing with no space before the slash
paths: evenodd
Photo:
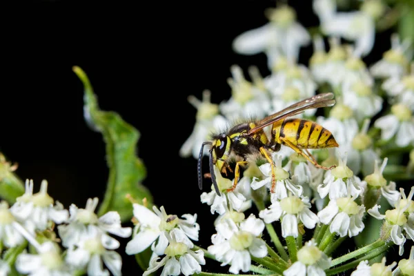
<path id="1" fill-rule="evenodd" d="M 230 146 L 231 146 L 231 139 L 225 133 L 221 133 L 217 137 L 214 138 L 212 142 L 204 142 L 201 145 L 201 150 L 199 153 L 198 159 L 198 183 L 199 188 L 203 188 L 202 183 L 202 173 L 201 173 L 201 159 L 203 158 L 204 153 L 204 146 L 210 145 L 210 153 L 209 153 L 209 164 L 210 164 L 210 175 L 211 181 L 213 181 L 213 186 L 217 195 L 220 195 L 219 186 L 217 185 L 217 180 L 215 177 L 214 166 L 217 166 L 220 172 L 226 169 L 226 160 L 230 156 Z"/>

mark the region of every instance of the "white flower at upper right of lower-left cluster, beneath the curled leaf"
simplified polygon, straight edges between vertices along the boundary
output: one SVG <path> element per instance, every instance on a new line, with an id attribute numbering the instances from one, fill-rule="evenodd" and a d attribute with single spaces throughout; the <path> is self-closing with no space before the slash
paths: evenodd
<path id="1" fill-rule="evenodd" d="M 77 208 L 75 204 L 69 207 L 70 217 L 68 224 L 57 226 L 63 246 L 70 247 L 76 244 L 83 233 L 86 233 L 88 225 L 97 226 L 105 235 L 106 233 L 119 237 L 129 237 L 131 235 L 132 229 L 121 226 L 121 217 L 117 212 L 110 211 L 101 217 L 95 214 L 98 201 L 97 197 L 88 199 L 84 209 Z"/>

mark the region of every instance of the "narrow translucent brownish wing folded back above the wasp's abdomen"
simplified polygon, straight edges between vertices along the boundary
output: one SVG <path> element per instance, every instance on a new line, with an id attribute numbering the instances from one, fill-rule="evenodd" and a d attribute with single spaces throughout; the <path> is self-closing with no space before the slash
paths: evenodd
<path id="1" fill-rule="evenodd" d="M 294 103 L 293 105 L 288 106 L 287 108 L 284 108 L 283 110 L 280 110 L 279 112 L 276 112 L 275 114 L 269 115 L 268 117 L 260 120 L 257 123 L 257 126 L 248 131 L 248 135 L 275 123 L 275 121 L 298 115 L 305 110 L 333 106 L 335 104 L 335 99 L 333 99 L 333 97 L 333 93 L 324 93 L 308 99 L 304 99 L 303 101 L 298 101 L 297 103 Z"/>

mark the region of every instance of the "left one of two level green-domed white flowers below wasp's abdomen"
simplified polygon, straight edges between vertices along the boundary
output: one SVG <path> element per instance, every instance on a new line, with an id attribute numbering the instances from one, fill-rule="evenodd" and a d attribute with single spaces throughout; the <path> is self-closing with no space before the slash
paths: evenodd
<path id="1" fill-rule="evenodd" d="M 308 197 L 299 198 L 296 196 L 289 196 L 280 201 L 273 200 L 272 205 L 261 210 L 259 217 L 261 217 L 266 224 L 273 221 L 282 221 L 282 237 L 297 237 L 299 235 L 298 224 L 302 222 L 308 229 L 315 228 L 319 222 L 317 215 L 311 210 L 311 203 Z"/>

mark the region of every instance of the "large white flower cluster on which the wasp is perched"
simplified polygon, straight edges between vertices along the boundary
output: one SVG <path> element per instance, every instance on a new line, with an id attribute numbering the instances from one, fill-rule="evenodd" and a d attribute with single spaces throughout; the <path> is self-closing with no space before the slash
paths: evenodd
<path id="1" fill-rule="evenodd" d="M 259 69 L 252 66 L 248 70 L 249 81 L 242 68 L 234 65 L 228 79 L 230 99 L 211 103 L 209 91 L 203 101 L 190 97 L 197 108 L 197 121 L 180 155 L 198 158 L 205 141 L 213 141 L 213 146 L 217 146 L 214 138 L 217 136 L 208 136 L 212 130 L 226 136 L 231 122 L 254 122 L 249 121 L 251 118 L 259 121 L 322 92 L 335 95 L 335 106 L 324 116 L 308 109 L 295 117 L 310 119 L 329 130 L 339 144 L 337 148 L 299 148 L 310 157 L 305 159 L 297 154 L 297 148 L 286 143 L 280 150 L 267 148 L 271 157 L 258 160 L 239 156 L 230 145 L 225 153 L 228 159 L 220 160 L 227 162 L 225 168 L 214 166 L 211 159 L 215 157 L 208 149 L 200 153 L 210 155 L 210 172 L 214 173 L 213 180 L 221 192 L 217 194 L 212 186 L 211 191 L 201 194 L 201 202 L 218 215 L 217 233 L 212 235 L 212 245 L 205 253 L 222 266 L 230 265 L 230 273 L 273 272 L 289 276 L 326 275 L 329 271 L 333 275 L 356 268 L 356 261 L 353 267 L 340 264 L 359 258 L 361 262 L 353 275 L 414 275 L 413 250 L 409 259 L 402 259 L 398 266 L 397 263 L 386 266 L 385 258 L 378 264 L 366 262 L 386 252 L 391 245 L 399 246 L 403 255 L 406 241 L 414 239 L 414 187 L 406 195 L 403 188 L 397 189 L 396 182 L 391 180 L 395 175 L 390 174 L 394 166 L 404 167 L 404 171 L 399 171 L 401 174 L 413 174 L 411 44 L 393 34 L 391 49 L 379 61 L 367 65 L 362 59 L 373 49 L 375 23 L 389 7 L 380 0 L 367 0 L 359 1 L 359 10 L 339 12 L 336 3 L 313 1 L 313 11 L 321 23 L 321 32 L 313 37 L 296 21 L 295 10 L 289 6 L 281 4 L 266 10 L 269 23 L 240 34 L 233 41 L 233 48 L 242 55 L 264 52 L 270 75 L 262 77 Z M 299 50 L 311 41 L 314 52 L 306 67 L 298 63 Z M 299 139 L 299 130 L 289 131 L 297 132 Z M 270 139 L 268 135 L 267 141 Z M 402 161 L 410 150 L 411 166 L 407 166 Z M 232 157 L 242 157 L 247 164 L 240 179 L 234 179 L 238 172 L 233 174 L 233 168 L 228 169 L 231 162 L 239 161 Z M 315 163 L 331 170 L 319 168 Z M 224 173 L 228 171 L 232 173 Z M 384 177 L 386 172 L 389 177 Z M 381 213 L 380 203 L 386 206 Z M 259 210 L 257 215 L 253 214 L 253 206 Z M 371 247 L 332 259 L 330 256 L 345 239 L 362 233 L 369 215 L 382 221 L 377 241 Z M 278 226 L 275 222 L 279 222 Z M 280 229 L 286 246 L 279 241 L 273 227 Z M 266 243 L 265 228 L 277 250 Z M 303 243 L 305 234 L 310 238 Z M 193 271 L 198 273 L 199 266 Z"/>

